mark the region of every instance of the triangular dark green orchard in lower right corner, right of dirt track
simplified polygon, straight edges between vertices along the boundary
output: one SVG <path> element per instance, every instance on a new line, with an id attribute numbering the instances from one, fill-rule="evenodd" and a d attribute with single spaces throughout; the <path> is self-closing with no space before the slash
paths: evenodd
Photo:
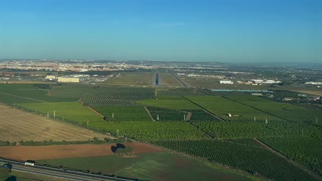
<path id="1" fill-rule="evenodd" d="M 310 137 L 261 138 L 261 141 L 322 175 L 322 142 Z"/>

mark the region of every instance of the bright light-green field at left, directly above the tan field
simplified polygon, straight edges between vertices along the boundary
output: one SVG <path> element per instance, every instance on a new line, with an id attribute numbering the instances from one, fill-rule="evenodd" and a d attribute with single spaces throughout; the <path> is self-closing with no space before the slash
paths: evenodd
<path id="1" fill-rule="evenodd" d="M 17 106 L 32 110 L 33 112 L 41 112 L 44 115 L 47 115 L 47 112 L 49 112 L 50 117 L 54 117 L 55 111 L 56 118 L 69 119 L 71 121 L 77 121 L 78 123 L 102 120 L 102 118 L 92 112 L 92 110 L 89 110 L 78 102 L 28 103 L 17 104 Z"/>

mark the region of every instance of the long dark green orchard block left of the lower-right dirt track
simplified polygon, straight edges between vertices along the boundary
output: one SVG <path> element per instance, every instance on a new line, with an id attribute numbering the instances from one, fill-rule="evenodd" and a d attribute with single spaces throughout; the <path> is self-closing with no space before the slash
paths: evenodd
<path id="1" fill-rule="evenodd" d="M 308 173 L 265 148 L 236 143 L 202 141 L 153 141 L 155 145 L 207 158 L 272 180 L 314 180 Z"/>

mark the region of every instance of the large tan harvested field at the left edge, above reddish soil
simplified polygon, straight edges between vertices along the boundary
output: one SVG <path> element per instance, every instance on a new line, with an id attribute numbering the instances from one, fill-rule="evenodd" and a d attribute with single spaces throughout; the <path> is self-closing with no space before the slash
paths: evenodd
<path id="1" fill-rule="evenodd" d="M 94 137 L 110 136 L 0 104 L 1 141 L 83 141 Z"/>

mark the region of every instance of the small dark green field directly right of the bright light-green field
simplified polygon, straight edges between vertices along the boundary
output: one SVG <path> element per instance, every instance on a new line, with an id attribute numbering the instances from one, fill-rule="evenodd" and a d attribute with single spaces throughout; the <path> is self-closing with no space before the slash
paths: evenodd
<path id="1" fill-rule="evenodd" d="M 109 121 L 152 121 L 144 106 L 92 106 Z"/>

